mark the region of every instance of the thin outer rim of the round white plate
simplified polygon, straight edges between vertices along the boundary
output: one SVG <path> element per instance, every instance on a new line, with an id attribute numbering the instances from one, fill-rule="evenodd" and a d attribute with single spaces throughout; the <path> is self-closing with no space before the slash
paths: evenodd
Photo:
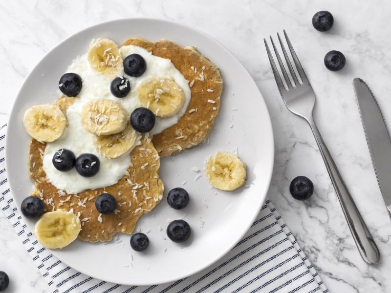
<path id="1" fill-rule="evenodd" d="M 18 94 L 16 95 L 16 98 L 14 100 L 14 103 L 13 103 L 13 106 L 12 106 L 12 109 L 10 111 L 10 115 L 9 115 L 9 122 L 11 120 L 11 117 L 15 116 L 15 112 L 17 111 L 16 109 L 16 101 L 19 98 L 20 94 L 21 94 L 21 91 L 22 89 L 24 88 L 27 80 L 31 77 L 31 75 L 33 75 L 36 67 L 38 67 L 42 62 L 43 60 L 46 58 L 47 55 L 49 55 L 53 50 L 55 50 L 56 48 L 60 47 L 63 43 L 65 42 L 68 42 L 69 39 L 79 35 L 79 34 L 83 34 L 85 33 L 86 31 L 88 30 L 93 30 L 94 28 L 96 27 L 99 27 L 99 26 L 105 26 L 105 25 L 109 25 L 111 23 L 114 23 L 114 22 L 123 22 L 123 21 L 155 21 L 155 22 L 163 22 L 163 23 L 166 23 L 168 25 L 171 25 L 171 26 L 177 26 L 177 27 L 181 27 L 183 29 L 186 29 L 186 30 L 190 30 L 190 31 L 195 31 L 196 33 L 202 35 L 204 38 L 208 39 L 208 42 L 215 42 L 216 44 L 218 44 L 219 46 L 219 49 L 222 49 L 225 51 L 225 53 L 227 53 L 228 55 L 230 55 L 230 57 L 232 57 L 234 60 L 236 60 L 240 66 L 243 67 L 243 69 L 245 70 L 246 74 L 247 74 L 247 77 L 246 79 L 249 79 L 251 81 L 251 83 L 254 84 L 254 86 L 258 89 L 260 95 L 261 95 L 261 103 L 263 104 L 264 108 L 266 109 L 266 113 L 267 113 L 267 123 L 268 123 L 268 130 L 269 130 L 269 133 L 270 133 L 270 139 L 268 140 L 268 143 L 269 143 L 269 146 L 270 146 L 270 154 L 268 154 L 270 156 L 270 165 L 269 165 L 269 169 L 267 170 L 267 178 L 265 180 L 265 191 L 264 191 L 264 194 L 262 194 L 262 201 L 261 201 L 261 204 L 260 204 L 260 209 L 259 211 L 261 211 L 261 207 L 262 205 L 264 204 L 264 201 L 266 199 L 266 196 L 267 196 L 267 193 L 268 193 L 268 190 L 270 188 L 270 184 L 271 184 L 271 179 L 272 179 L 272 174 L 273 174 L 273 169 L 274 169 L 274 158 L 275 158 L 275 143 L 274 143 L 274 133 L 273 133 L 273 127 L 272 127 L 272 123 L 271 123 L 271 119 L 270 119 L 270 113 L 269 113 L 269 110 L 267 108 L 267 105 L 266 105 L 266 102 L 263 98 L 263 95 L 261 93 L 261 90 L 260 88 L 258 87 L 258 85 L 256 84 L 254 78 L 251 76 L 251 74 L 249 73 L 249 71 L 247 70 L 247 68 L 239 61 L 239 59 L 230 51 L 228 50 L 228 48 L 226 48 L 222 43 L 218 42 L 216 39 L 214 39 L 213 37 L 209 36 L 208 34 L 204 33 L 203 31 L 199 30 L 198 28 L 195 28 L 193 26 L 190 26 L 190 25 L 187 25 L 187 24 L 183 24 L 183 23 L 178 23 L 176 21 L 169 21 L 169 20 L 165 20 L 165 19 L 159 19 L 159 18 L 148 18 L 148 17 L 135 17 L 135 18 L 119 18 L 119 19 L 114 19 L 114 20 L 110 20 L 110 21 L 103 21 L 103 22 L 98 22 L 98 23 L 95 23 L 93 25 L 90 25 L 88 27 L 85 27 L 71 35 L 69 35 L 68 37 L 66 37 L 64 40 L 58 42 L 55 46 L 53 46 L 52 48 L 50 48 L 50 50 L 48 50 L 44 55 L 43 57 L 34 65 L 34 67 L 31 69 L 31 71 L 27 74 L 27 76 L 24 78 L 24 81 L 21 85 L 21 87 L 19 88 L 19 91 L 18 91 Z M 8 145 L 8 142 L 9 140 L 7 140 L 7 137 L 9 137 L 11 134 L 10 134 L 10 129 L 12 127 L 9 127 L 9 124 L 10 123 L 7 123 L 7 130 L 6 130 L 6 136 L 5 136 L 5 166 L 6 166 L 6 174 L 7 174 L 7 178 L 8 180 L 11 178 L 9 172 L 8 172 L 8 169 L 9 169 L 9 162 L 10 160 L 7 160 L 7 157 L 9 157 L 9 151 L 8 149 L 10 148 L 9 145 Z M 12 180 L 11 180 L 12 181 Z M 10 189 L 11 189 L 11 182 L 9 181 L 9 184 L 10 184 Z M 11 195 L 12 195 L 12 198 L 15 200 L 14 196 L 13 196 L 13 192 L 12 192 L 12 189 L 11 189 Z M 19 211 L 19 207 L 17 207 L 18 211 Z M 232 250 L 233 247 L 235 247 L 235 245 L 240 241 L 240 239 L 243 238 L 243 236 L 248 232 L 248 230 L 250 229 L 251 225 L 253 224 L 253 222 L 255 221 L 255 219 L 257 218 L 259 212 L 258 213 L 255 213 L 254 216 L 252 217 L 252 221 L 250 221 L 248 223 L 248 225 L 245 227 L 245 229 L 241 230 L 241 233 L 238 233 L 238 239 L 235 239 L 235 241 L 232 242 L 231 245 L 227 246 L 225 250 L 222 250 L 223 252 L 216 255 L 216 257 L 214 257 L 212 260 L 208 260 L 207 262 L 204 263 L 203 266 L 200 266 L 200 267 L 197 267 L 195 270 L 193 270 L 192 272 L 187 272 L 187 273 L 183 273 L 183 274 L 176 274 L 175 277 L 171 277 L 169 279 L 166 279 L 165 281 L 160 281 L 158 283 L 145 283 L 145 282 L 132 282 L 132 283 L 120 283 L 120 284 L 123 284 L 123 285 L 133 285 L 133 286 L 151 286 L 151 285 L 157 285 L 157 284 L 164 284 L 164 283 L 170 283 L 170 282 L 174 282 L 176 280 L 179 280 L 179 279 L 182 279 L 182 278 L 185 278 L 185 277 L 188 277 L 188 276 L 191 276 L 191 275 L 194 275 L 195 273 L 197 272 L 200 272 L 206 268 L 208 268 L 209 266 L 213 265 L 214 263 L 216 263 L 219 259 L 221 259 L 224 255 L 226 255 L 230 250 Z M 26 218 L 22 215 L 21 213 L 21 216 L 23 218 L 23 220 L 26 220 Z M 29 228 L 28 228 L 29 229 Z M 58 257 L 56 255 L 56 253 L 54 252 L 53 253 L 53 250 L 50 250 L 50 249 L 47 249 L 48 251 L 50 251 L 51 254 L 55 255 L 56 257 Z M 59 258 L 59 257 L 58 257 Z M 64 264 L 68 265 L 67 262 L 63 259 L 60 259 L 60 261 L 62 261 Z M 68 265 L 69 266 L 69 265 Z M 70 266 L 71 267 L 71 266 Z M 77 271 L 79 271 L 78 269 L 75 269 Z M 82 272 L 82 271 L 79 271 L 79 272 Z M 108 281 L 108 282 L 114 282 L 116 283 L 116 281 L 114 280 L 110 280 L 110 279 L 102 279 L 101 277 L 97 277 L 97 276 L 94 276 L 95 274 L 94 273 L 89 273 L 89 272 L 82 272 L 82 273 L 85 273 L 91 277 L 94 277 L 94 278 L 97 278 L 97 279 L 101 279 L 101 280 L 104 280 L 104 281 Z"/>

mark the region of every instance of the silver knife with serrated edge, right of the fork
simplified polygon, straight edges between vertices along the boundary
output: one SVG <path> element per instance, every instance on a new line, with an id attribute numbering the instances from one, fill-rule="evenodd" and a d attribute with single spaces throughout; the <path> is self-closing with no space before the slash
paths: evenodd
<path id="1" fill-rule="evenodd" d="M 361 78 L 355 78 L 353 79 L 353 87 L 377 183 L 391 219 L 390 133 L 369 86 Z"/>

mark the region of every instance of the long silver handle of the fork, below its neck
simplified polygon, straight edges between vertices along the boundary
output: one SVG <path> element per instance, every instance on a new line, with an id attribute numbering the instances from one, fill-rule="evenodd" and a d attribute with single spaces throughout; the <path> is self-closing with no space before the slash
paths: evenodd
<path id="1" fill-rule="evenodd" d="M 380 258 L 379 249 L 370 235 L 367 225 L 364 223 L 364 220 L 358 211 L 348 188 L 341 177 L 341 174 L 335 166 L 334 160 L 323 141 L 313 117 L 310 117 L 311 119 L 307 119 L 307 122 L 312 129 L 316 143 L 318 144 L 323 160 L 325 161 L 327 172 L 330 175 L 331 182 L 334 186 L 335 192 L 337 193 L 338 200 L 348 222 L 348 226 L 354 242 L 356 243 L 357 249 L 366 263 L 376 264 Z"/>

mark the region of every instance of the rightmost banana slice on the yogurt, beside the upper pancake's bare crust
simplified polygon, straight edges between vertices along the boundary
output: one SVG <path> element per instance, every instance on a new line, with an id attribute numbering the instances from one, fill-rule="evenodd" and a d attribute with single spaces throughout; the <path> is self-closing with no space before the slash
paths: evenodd
<path id="1" fill-rule="evenodd" d="M 185 93 L 173 79 L 152 78 L 138 88 L 141 104 L 156 116 L 170 117 L 178 113 L 186 101 Z"/>

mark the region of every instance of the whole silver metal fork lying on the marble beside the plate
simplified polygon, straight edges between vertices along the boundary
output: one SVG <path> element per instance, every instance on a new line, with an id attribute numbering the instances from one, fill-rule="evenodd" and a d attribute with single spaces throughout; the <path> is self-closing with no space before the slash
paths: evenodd
<path id="1" fill-rule="evenodd" d="M 315 93 L 307 79 L 307 76 L 305 75 L 304 69 L 300 64 L 300 61 L 295 53 L 295 50 L 292 47 L 292 44 L 285 30 L 283 30 L 283 33 L 286 39 L 286 43 L 288 44 L 289 51 L 291 53 L 291 58 L 293 59 L 301 82 L 299 82 L 292 63 L 289 61 L 288 54 L 286 53 L 280 35 L 277 33 L 282 53 L 285 57 L 287 67 L 290 72 L 291 79 L 289 79 L 289 76 L 285 70 L 285 66 L 282 63 L 279 52 L 273 42 L 272 37 L 270 37 L 270 41 L 277 56 L 278 63 L 280 64 L 283 81 L 277 70 L 276 63 L 274 63 L 269 46 L 267 45 L 266 40 L 263 39 L 263 41 L 265 42 L 266 51 L 269 57 L 270 65 L 272 67 L 274 78 L 276 80 L 277 87 L 280 91 L 282 100 L 289 111 L 304 118 L 311 127 L 311 130 L 315 136 L 316 143 L 318 144 L 323 160 L 325 161 L 327 172 L 330 176 L 331 182 L 334 186 L 345 218 L 348 222 L 348 227 L 350 229 L 350 232 L 352 233 L 354 242 L 356 243 L 357 249 L 365 262 L 367 262 L 368 264 L 376 264 L 379 261 L 380 252 L 372 236 L 370 235 L 369 230 L 348 191 L 348 188 L 346 187 L 337 167 L 335 166 L 335 163 L 326 147 L 325 142 L 323 141 L 318 127 L 315 124 L 312 115 L 312 111 L 315 105 Z M 283 83 L 286 84 L 286 88 Z"/>

